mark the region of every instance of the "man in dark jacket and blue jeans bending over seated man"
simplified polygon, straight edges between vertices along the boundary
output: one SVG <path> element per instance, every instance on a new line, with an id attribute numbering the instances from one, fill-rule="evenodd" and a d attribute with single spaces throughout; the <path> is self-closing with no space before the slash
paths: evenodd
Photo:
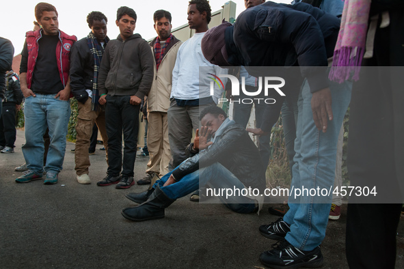
<path id="1" fill-rule="evenodd" d="M 311 190 L 329 190 L 334 182 L 338 134 L 351 98 L 351 83 L 338 84 L 327 79 L 327 58 L 334 53 L 339 24 L 335 16 L 306 3 L 266 2 L 245 10 L 234 27 L 224 30 L 220 44 L 226 46 L 226 53 L 204 49 L 214 43 L 202 40 L 205 57 L 219 65 L 279 66 L 280 72 L 284 72 L 285 66 L 298 66 L 306 78 L 298 102 L 290 210 L 283 219 L 260 227 L 263 236 L 282 240 L 274 249 L 260 255 L 265 266 L 299 268 L 323 264 L 320 244 L 325 237 L 332 193 L 309 195 L 307 191 L 304 193 L 304 188 L 309 188 L 311 194 Z M 211 29 L 212 33 L 215 30 Z M 205 38 L 208 36 L 209 33 Z M 220 41 L 215 39 L 216 43 Z M 249 70 L 254 76 L 262 76 L 254 71 Z M 291 81 L 286 77 L 286 83 Z M 275 104 L 267 106 L 266 111 L 270 113 L 266 113 L 263 131 L 270 132 L 281 105 L 277 99 Z"/>

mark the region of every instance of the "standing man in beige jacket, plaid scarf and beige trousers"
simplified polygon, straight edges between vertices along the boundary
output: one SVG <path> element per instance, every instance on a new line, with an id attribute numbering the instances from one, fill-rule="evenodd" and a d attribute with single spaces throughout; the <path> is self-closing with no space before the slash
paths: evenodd
<path id="1" fill-rule="evenodd" d="M 170 12 L 157 10 L 154 12 L 153 18 L 157 38 L 150 42 L 154 55 L 154 80 L 147 97 L 147 146 L 150 160 L 147 164 L 146 176 L 137 182 L 139 185 L 150 184 L 153 178 L 155 181 L 154 174 L 165 175 L 168 173 L 171 152 L 168 141 L 167 110 L 170 107 L 172 70 L 178 48 L 182 43 L 171 33 Z"/>

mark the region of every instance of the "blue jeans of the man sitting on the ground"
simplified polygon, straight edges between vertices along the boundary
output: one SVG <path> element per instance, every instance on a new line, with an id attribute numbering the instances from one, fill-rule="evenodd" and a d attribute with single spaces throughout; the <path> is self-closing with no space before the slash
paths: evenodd
<path id="1" fill-rule="evenodd" d="M 178 167 L 176 167 L 178 169 Z M 174 169 L 174 170 L 176 170 Z M 174 171 L 173 170 L 173 171 Z M 164 183 L 170 178 L 173 171 L 165 174 L 161 180 L 157 180 L 154 183 L 153 188 L 160 186 L 163 193 L 171 199 L 178 199 L 184 197 L 189 193 L 193 193 L 198 190 L 199 186 L 205 186 L 209 184 L 212 188 L 239 188 L 240 190 L 245 188 L 244 184 L 236 178 L 226 167 L 219 162 L 215 162 L 213 165 L 201 168 L 193 173 L 185 175 L 180 181 L 163 186 Z M 256 210 L 254 200 L 244 196 L 219 196 L 221 202 L 230 210 L 237 213 L 252 213 Z"/>

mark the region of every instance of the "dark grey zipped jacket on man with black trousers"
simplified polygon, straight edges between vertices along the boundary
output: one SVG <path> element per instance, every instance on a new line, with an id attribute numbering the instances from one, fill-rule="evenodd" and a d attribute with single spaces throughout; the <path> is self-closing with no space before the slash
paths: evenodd
<path id="1" fill-rule="evenodd" d="M 100 96 L 137 96 L 144 99 L 153 81 L 150 45 L 138 33 L 108 42 L 98 74 Z"/>

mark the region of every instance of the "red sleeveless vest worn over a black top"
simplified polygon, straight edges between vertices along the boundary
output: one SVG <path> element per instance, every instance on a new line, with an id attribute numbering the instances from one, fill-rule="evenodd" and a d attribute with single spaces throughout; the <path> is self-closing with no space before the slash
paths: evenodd
<path id="1" fill-rule="evenodd" d="M 38 31 L 28 31 L 26 36 L 28 48 L 28 63 L 27 63 L 27 86 L 31 89 L 33 70 L 35 69 L 36 59 L 38 57 L 39 45 L 38 40 L 42 38 L 42 29 Z M 68 82 L 70 70 L 70 49 L 77 41 L 76 36 L 68 36 L 68 34 L 59 30 L 59 41 L 56 46 L 57 69 L 60 74 L 60 81 L 64 87 Z"/>

